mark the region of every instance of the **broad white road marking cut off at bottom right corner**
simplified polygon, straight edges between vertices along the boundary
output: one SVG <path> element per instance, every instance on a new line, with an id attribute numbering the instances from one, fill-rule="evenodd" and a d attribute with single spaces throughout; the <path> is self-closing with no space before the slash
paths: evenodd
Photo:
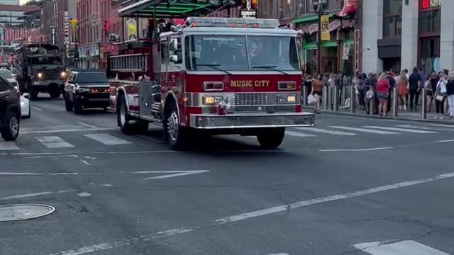
<path id="1" fill-rule="evenodd" d="M 438 249 L 433 249 L 432 247 L 412 240 L 395 242 L 392 244 L 371 242 L 355 244 L 354 246 L 356 249 L 360 249 L 372 255 L 449 255 L 443 251 L 438 251 Z"/>

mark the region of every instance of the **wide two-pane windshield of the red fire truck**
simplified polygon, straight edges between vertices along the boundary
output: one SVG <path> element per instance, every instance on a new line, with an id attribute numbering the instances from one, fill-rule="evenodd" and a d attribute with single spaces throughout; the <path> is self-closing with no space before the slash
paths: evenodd
<path id="1" fill-rule="evenodd" d="M 188 36 L 184 43 L 189 49 L 185 56 L 188 70 L 218 69 L 223 72 L 299 70 L 297 41 L 292 37 L 192 35 Z"/>

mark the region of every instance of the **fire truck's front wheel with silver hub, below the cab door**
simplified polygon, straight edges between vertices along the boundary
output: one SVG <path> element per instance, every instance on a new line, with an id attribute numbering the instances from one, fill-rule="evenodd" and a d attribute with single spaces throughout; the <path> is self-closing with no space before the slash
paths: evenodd
<path id="1" fill-rule="evenodd" d="M 170 106 L 166 106 L 165 115 L 162 119 L 164 127 L 165 140 L 169 144 L 170 149 L 182 150 L 188 145 L 188 130 L 179 125 L 179 116 L 177 105 L 175 102 L 169 102 Z"/>

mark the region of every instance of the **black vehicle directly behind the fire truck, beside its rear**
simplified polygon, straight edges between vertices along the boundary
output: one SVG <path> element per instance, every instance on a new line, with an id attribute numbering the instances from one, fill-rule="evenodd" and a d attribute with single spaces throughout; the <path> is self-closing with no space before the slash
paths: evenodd
<path id="1" fill-rule="evenodd" d="M 104 108 L 109 106 L 110 85 L 106 72 L 102 69 L 74 70 L 65 83 L 66 111 L 81 114 L 84 108 Z"/>

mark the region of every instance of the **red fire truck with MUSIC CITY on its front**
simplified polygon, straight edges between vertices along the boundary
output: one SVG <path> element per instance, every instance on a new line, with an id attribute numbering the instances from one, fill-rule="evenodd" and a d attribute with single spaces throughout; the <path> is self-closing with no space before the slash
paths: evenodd
<path id="1" fill-rule="evenodd" d="M 275 148 L 285 128 L 313 126 L 314 114 L 301 112 L 297 32 L 278 27 L 273 19 L 189 17 L 152 40 L 121 43 L 108 58 L 121 131 L 162 125 L 172 149 L 195 134 L 253 135 Z"/>

